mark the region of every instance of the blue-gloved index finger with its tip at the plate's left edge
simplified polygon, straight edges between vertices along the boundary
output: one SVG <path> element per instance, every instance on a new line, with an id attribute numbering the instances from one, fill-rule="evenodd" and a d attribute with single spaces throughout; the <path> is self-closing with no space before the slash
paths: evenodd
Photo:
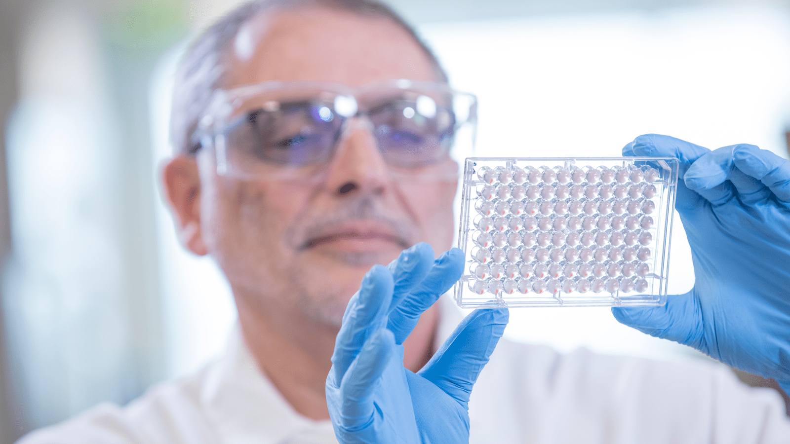
<path id="1" fill-rule="evenodd" d="M 451 248 L 434 261 L 431 270 L 420 283 L 389 313 L 387 329 L 395 335 L 395 343 L 403 344 L 412 333 L 423 311 L 453 287 L 464 274 L 464 252 Z"/>

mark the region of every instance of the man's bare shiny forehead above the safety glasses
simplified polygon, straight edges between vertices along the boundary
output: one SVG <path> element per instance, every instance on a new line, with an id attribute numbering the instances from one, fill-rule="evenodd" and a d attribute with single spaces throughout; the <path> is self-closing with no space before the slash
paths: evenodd
<path id="1" fill-rule="evenodd" d="M 226 88 L 263 81 L 438 81 L 425 52 L 397 24 L 331 9 L 261 13 L 240 28 L 230 51 Z"/>

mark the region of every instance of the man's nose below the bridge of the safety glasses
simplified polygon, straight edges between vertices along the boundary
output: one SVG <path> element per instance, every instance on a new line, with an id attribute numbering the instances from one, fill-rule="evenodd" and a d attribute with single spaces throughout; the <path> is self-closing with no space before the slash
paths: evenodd
<path id="1" fill-rule="evenodd" d="M 327 189 L 337 197 L 382 195 L 390 180 L 371 122 L 352 119 L 340 135 L 337 152 L 329 165 Z"/>

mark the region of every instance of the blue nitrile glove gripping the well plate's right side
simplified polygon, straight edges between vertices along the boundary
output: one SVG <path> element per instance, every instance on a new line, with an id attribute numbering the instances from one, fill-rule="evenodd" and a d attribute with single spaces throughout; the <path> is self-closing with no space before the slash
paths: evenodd
<path id="1" fill-rule="evenodd" d="M 790 162 L 754 145 L 710 151 L 656 134 L 637 137 L 623 156 L 680 160 L 675 209 L 695 281 L 664 307 L 614 308 L 615 318 L 790 393 Z"/>

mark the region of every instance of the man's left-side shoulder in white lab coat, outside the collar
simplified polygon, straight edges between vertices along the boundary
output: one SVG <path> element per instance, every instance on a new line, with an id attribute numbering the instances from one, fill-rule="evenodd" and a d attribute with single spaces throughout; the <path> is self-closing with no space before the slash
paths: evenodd
<path id="1" fill-rule="evenodd" d="M 154 386 L 126 407 L 99 404 L 70 420 L 32 431 L 19 444 L 216 442 L 201 408 L 202 377 L 201 373 Z"/>

